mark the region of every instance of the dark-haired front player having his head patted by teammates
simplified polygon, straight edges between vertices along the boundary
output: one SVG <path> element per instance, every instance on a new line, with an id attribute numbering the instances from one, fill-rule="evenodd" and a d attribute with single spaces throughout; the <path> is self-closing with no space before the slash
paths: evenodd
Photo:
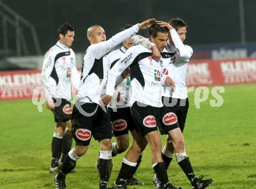
<path id="1" fill-rule="evenodd" d="M 159 27 L 156 23 L 150 27 L 150 41 L 155 43 L 158 50 L 165 49 L 169 38 L 169 30 L 166 27 Z M 162 84 L 172 84 L 169 77 L 163 78 L 162 60 L 152 59 L 152 52 L 142 45 L 129 48 L 125 55 L 109 71 L 106 95 L 102 98 L 104 104 L 108 104 L 113 96 L 116 78 L 130 67 L 131 92 L 130 106 L 131 115 L 136 123 L 136 130 L 140 133 L 139 137 L 134 138 L 133 145 L 123 158 L 122 167 L 118 178 L 113 184 L 115 189 L 126 189 L 126 181 L 131 173 L 136 169 L 138 158 L 147 146 L 151 148 L 152 168 L 158 178 L 163 183 L 164 188 L 174 189 L 168 180 L 165 163 L 161 156 L 161 136 L 158 133 L 157 122 L 159 109 L 162 104 Z M 168 59 L 168 53 L 162 54 L 162 59 Z M 177 124 L 172 125 L 179 127 Z"/>

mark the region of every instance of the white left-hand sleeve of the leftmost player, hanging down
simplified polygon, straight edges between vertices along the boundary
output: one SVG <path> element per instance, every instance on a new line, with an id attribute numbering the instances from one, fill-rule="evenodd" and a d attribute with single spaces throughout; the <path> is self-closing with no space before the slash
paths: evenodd
<path id="1" fill-rule="evenodd" d="M 55 54 L 51 49 L 48 50 L 48 52 L 44 55 L 44 62 L 42 63 L 41 82 L 42 86 L 44 87 L 44 95 L 47 100 L 51 99 L 52 97 L 49 78 L 54 68 L 54 55 Z"/>

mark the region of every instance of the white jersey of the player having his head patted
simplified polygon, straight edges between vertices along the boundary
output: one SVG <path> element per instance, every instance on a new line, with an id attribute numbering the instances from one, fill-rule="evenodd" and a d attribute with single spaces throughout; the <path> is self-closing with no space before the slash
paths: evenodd
<path id="1" fill-rule="evenodd" d="M 162 56 L 169 59 L 170 56 Z M 129 48 L 125 55 L 109 71 L 106 95 L 113 94 L 115 79 L 130 67 L 130 106 L 135 101 L 153 107 L 162 107 L 163 78 L 162 60 L 152 59 L 152 51 L 142 45 Z"/>

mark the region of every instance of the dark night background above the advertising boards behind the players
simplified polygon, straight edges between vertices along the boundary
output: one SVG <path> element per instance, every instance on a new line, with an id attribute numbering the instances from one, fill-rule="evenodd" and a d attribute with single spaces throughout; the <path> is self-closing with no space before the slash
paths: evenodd
<path id="1" fill-rule="evenodd" d="M 55 43 L 56 28 L 65 21 L 75 28 L 75 52 L 84 52 L 88 47 L 86 29 L 93 24 L 100 24 L 110 38 L 124 24 L 138 23 L 150 17 L 165 21 L 172 17 L 182 17 L 189 26 L 186 43 L 191 46 L 241 42 L 239 0 L 1 1 L 33 24 L 41 53 Z M 244 1 L 244 31 L 247 43 L 256 41 L 255 8 L 255 0 Z M 147 31 L 142 34 L 147 36 Z M 8 35 L 9 42 L 15 43 L 15 32 L 9 30 Z M 26 40 L 30 39 L 26 37 Z M 34 46 L 30 45 L 29 50 L 33 52 Z"/>

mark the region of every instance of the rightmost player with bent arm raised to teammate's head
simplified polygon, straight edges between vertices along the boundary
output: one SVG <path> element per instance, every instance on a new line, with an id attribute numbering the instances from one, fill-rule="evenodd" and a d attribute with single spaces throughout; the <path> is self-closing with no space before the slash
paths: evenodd
<path id="1" fill-rule="evenodd" d="M 169 86 L 165 86 L 162 97 L 163 107 L 161 108 L 161 126 L 159 126 L 159 130 L 161 130 L 161 133 L 168 134 L 166 144 L 162 150 L 162 158 L 167 169 L 175 153 L 177 163 L 190 180 L 192 188 L 206 188 L 213 180 L 202 180 L 204 176 L 199 178 L 195 176 L 185 151 L 182 134 L 189 108 L 186 70 L 189 59 L 193 54 L 192 48 L 183 44 L 186 39 L 187 26 L 182 19 L 171 19 L 169 23 L 159 21 L 158 24 L 162 27 L 168 27 L 170 30 L 169 43 L 165 52 L 171 52 L 172 57 L 169 61 L 163 62 L 163 74 L 168 75 L 175 82 L 175 91 Z M 168 126 L 173 123 L 179 123 L 179 128 L 169 130 Z M 154 177 L 153 183 L 157 189 L 163 188 L 157 176 Z"/>

